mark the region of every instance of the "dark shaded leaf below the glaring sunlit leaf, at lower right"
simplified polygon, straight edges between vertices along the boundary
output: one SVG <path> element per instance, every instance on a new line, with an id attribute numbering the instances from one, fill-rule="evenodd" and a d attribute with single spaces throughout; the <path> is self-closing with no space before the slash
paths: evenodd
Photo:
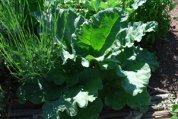
<path id="1" fill-rule="evenodd" d="M 120 110 L 127 105 L 140 112 L 146 112 L 149 103 L 150 96 L 146 90 L 136 96 L 132 96 L 122 90 L 115 90 L 115 92 L 111 94 L 106 94 L 105 97 L 105 104 L 112 107 L 114 110 Z"/>

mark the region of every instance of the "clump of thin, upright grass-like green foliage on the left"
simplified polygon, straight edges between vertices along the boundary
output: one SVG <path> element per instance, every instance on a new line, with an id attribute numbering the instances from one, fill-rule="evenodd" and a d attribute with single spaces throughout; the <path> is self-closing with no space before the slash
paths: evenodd
<path id="1" fill-rule="evenodd" d="M 54 55 L 57 54 L 54 53 L 55 37 L 47 33 L 37 34 L 36 21 L 30 16 L 28 2 L 1 2 L 3 31 L 0 46 L 5 63 L 11 73 L 21 80 L 44 77 L 53 66 Z"/>

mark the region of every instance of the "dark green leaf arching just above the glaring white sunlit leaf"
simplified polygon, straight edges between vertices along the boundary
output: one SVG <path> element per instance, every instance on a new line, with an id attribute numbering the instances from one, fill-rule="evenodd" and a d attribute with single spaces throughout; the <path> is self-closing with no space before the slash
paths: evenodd
<path id="1" fill-rule="evenodd" d="M 115 56 L 115 57 L 114 57 Z M 129 67 L 133 61 L 149 64 L 152 71 L 158 68 L 158 62 L 155 54 L 140 47 L 124 48 L 118 54 L 112 54 L 112 59 L 118 60 L 122 68 Z"/>

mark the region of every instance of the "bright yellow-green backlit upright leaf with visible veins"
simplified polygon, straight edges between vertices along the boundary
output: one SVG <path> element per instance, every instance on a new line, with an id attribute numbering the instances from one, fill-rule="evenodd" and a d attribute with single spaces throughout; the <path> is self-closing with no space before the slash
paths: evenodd
<path id="1" fill-rule="evenodd" d="M 120 8 L 108 8 L 94 15 L 89 21 L 84 22 L 80 33 L 77 33 L 76 45 L 87 50 L 100 51 L 116 22 L 125 20 Z M 115 29 L 115 34 L 119 29 Z"/>

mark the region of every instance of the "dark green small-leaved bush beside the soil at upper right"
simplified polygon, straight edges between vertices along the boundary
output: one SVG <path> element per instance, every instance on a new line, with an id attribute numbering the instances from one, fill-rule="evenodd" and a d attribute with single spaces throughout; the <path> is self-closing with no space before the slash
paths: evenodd
<path id="1" fill-rule="evenodd" d="M 147 0 L 145 4 L 139 7 L 131 17 L 133 21 L 148 22 L 156 21 L 158 27 L 156 32 L 148 34 L 144 37 L 142 44 L 146 47 L 155 45 L 164 40 L 170 25 L 170 11 L 175 7 L 172 0 Z"/>

